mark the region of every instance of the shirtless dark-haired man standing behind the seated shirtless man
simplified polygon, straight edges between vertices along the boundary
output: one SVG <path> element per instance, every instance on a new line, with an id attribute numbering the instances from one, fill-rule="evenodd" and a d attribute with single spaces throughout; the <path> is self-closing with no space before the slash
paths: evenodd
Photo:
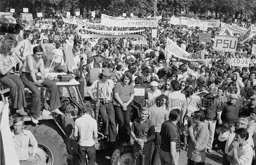
<path id="1" fill-rule="evenodd" d="M 27 55 L 31 54 L 31 43 L 33 39 L 33 33 L 30 30 L 26 30 L 23 35 L 24 39 L 19 42 L 14 50 L 16 56 L 24 62 Z"/>

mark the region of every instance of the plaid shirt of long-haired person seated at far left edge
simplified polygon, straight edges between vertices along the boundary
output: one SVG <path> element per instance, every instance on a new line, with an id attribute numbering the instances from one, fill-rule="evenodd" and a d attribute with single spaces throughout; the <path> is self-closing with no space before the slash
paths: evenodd
<path id="1" fill-rule="evenodd" d="M 10 60 L 8 58 L 9 56 Z M 0 54 L 0 67 L 4 67 L 4 69 L 6 69 L 11 64 L 13 64 L 14 67 L 9 72 L 15 73 L 19 58 L 14 53 L 10 54 L 9 56 L 4 56 L 3 54 Z"/>

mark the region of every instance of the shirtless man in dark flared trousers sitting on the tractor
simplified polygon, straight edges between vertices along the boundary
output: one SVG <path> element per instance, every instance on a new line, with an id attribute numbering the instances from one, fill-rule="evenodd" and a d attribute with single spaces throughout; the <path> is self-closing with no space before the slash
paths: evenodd
<path id="1" fill-rule="evenodd" d="M 40 115 L 40 109 L 41 109 L 41 99 L 40 99 L 40 91 L 38 90 L 37 85 L 44 85 L 46 86 L 46 89 L 50 91 L 50 105 L 49 111 L 56 112 L 60 115 L 64 115 L 60 110 L 58 109 L 61 107 L 60 103 L 60 96 L 58 93 L 57 85 L 55 82 L 49 80 L 45 77 L 45 71 L 44 71 L 44 60 L 42 59 L 42 54 L 44 53 L 44 50 L 41 46 L 35 46 L 33 48 L 33 54 L 28 55 L 25 58 L 25 61 L 23 63 L 23 66 L 21 68 L 20 77 L 25 86 L 29 88 L 29 90 L 32 92 L 33 97 L 31 101 L 31 110 L 30 110 L 30 116 L 31 121 L 35 124 L 38 123 L 37 118 Z M 41 76 L 38 76 L 38 70 L 40 70 Z M 45 104 L 46 108 L 46 104 Z"/>

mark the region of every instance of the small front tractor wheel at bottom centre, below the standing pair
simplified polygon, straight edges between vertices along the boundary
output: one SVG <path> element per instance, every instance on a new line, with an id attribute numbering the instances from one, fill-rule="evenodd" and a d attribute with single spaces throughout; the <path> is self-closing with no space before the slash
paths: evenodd
<path id="1" fill-rule="evenodd" d="M 132 146 L 117 148 L 111 156 L 111 165 L 134 165 Z"/>

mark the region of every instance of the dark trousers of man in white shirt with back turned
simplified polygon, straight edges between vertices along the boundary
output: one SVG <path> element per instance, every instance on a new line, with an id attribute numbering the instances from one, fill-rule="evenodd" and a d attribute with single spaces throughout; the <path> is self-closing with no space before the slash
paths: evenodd
<path id="1" fill-rule="evenodd" d="M 88 165 L 95 165 L 96 149 L 95 146 L 78 146 L 78 163 L 79 165 L 85 165 L 86 154 L 88 157 Z M 86 163 L 87 164 L 87 163 Z"/>

